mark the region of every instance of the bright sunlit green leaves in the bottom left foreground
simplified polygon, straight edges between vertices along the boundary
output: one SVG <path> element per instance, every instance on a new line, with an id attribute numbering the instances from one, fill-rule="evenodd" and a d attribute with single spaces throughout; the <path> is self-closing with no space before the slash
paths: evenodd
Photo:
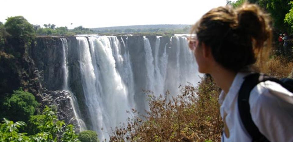
<path id="1" fill-rule="evenodd" d="M 36 115 L 40 119 L 35 119 L 33 122 L 37 129 L 37 134 L 27 136 L 27 133 L 19 133 L 19 129 L 26 126 L 22 121 L 13 122 L 4 118 L 0 123 L 0 141 L 69 141 L 78 142 L 77 134 L 74 133 L 73 125 L 65 125 L 64 121 L 57 119 L 54 111 L 46 107 L 42 115 Z"/>

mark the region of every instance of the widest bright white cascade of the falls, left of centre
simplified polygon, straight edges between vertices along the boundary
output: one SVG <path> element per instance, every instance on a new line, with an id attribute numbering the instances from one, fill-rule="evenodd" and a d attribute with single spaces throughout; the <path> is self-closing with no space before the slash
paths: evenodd
<path id="1" fill-rule="evenodd" d="M 110 128 L 126 122 L 126 110 L 131 109 L 128 90 L 118 72 L 119 69 L 125 77 L 131 73 L 124 62 L 127 59 L 120 54 L 116 37 L 92 35 L 88 39 L 77 37 L 77 40 L 82 53 L 80 70 L 92 127 L 100 138 L 108 139 Z"/>

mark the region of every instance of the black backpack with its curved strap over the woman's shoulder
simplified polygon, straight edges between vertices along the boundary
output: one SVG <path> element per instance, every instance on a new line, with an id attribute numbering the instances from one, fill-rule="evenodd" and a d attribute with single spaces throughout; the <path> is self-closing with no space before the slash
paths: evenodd
<path id="1" fill-rule="evenodd" d="M 286 88 L 288 91 L 293 92 L 293 79 L 283 78 L 279 80 L 270 76 L 266 76 L 263 73 L 252 73 L 244 77 L 244 82 L 242 83 L 238 93 L 238 110 L 241 121 L 248 134 L 252 137 L 252 141 L 269 141 L 263 134 L 259 132 L 259 129 L 252 121 L 249 107 L 250 92 L 257 84 L 267 80 L 276 82 Z"/>

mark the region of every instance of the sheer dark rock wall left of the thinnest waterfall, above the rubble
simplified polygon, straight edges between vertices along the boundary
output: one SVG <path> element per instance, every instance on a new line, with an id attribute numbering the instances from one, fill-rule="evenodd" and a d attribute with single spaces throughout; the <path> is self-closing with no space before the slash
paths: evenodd
<path id="1" fill-rule="evenodd" d="M 39 71 L 44 73 L 43 86 L 48 90 L 61 90 L 63 85 L 63 49 L 60 38 L 37 38 L 31 57 Z"/>

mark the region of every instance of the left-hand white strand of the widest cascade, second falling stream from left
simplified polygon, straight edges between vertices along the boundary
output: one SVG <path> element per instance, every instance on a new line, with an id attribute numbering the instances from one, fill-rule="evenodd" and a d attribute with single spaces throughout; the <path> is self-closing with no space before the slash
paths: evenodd
<path id="1" fill-rule="evenodd" d="M 85 96 L 86 105 L 89 111 L 89 117 L 91 118 L 91 123 L 93 125 L 93 129 L 97 131 L 99 134 L 102 133 L 102 127 L 107 126 L 105 124 L 104 117 L 107 117 L 103 111 L 103 105 L 101 105 L 102 99 L 99 93 L 101 89 L 99 84 L 96 82 L 96 74 L 94 71 L 97 72 L 97 69 L 94 70 L 94 66 L 92 64 L 92 58 L 90 54 L 89 44 L 86 37 L 76 37 L 78 42 L 78 47 L 80 49 L 80 73 L 82 79 L 82 86 L 83 92 Z M 94 52 L 94 51 L 92 51 Z M 95 59 L 93 60 L 95 63 Z M 95 68 L 97 65 L 95 64 Z M 100 136 L 102 139 L 105 137 L 102 135 Z"/>

